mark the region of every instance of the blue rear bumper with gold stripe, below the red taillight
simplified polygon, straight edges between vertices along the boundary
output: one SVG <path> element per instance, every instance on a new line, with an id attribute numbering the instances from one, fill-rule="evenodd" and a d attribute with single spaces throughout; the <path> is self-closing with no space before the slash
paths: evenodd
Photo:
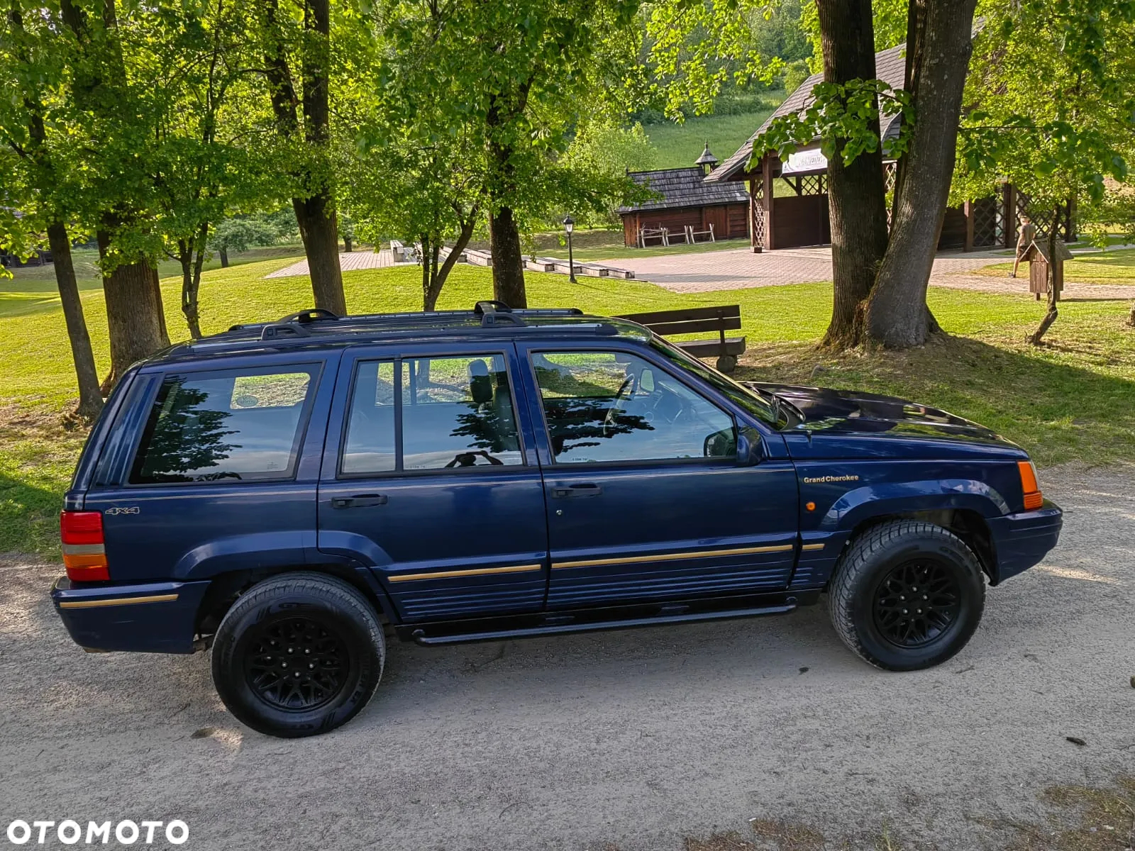
<path id="1" fill-rule="evenodd" d="M 208 582 L 91 587 L 60 576 L 51 585 L 51 601 L 75 643 L 89 650 L 188 654 L 208 587 Z"/>

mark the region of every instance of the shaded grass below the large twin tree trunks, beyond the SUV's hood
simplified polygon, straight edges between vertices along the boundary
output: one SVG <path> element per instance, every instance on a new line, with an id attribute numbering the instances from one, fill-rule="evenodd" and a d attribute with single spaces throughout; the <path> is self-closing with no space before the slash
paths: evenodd
<path id="1" fill-rule="evenodd" d="M 1076 340 L 1019 352 L 943 337 L 908 352 L 836 356 L 779 344 L 750 348 L 734 377 L 903 396 L 994 429 L 1042 464 L 1135 456 L 1135 381 L 1061 363 L 1063 352 L 1100 362 L 1112 354 Z"/>

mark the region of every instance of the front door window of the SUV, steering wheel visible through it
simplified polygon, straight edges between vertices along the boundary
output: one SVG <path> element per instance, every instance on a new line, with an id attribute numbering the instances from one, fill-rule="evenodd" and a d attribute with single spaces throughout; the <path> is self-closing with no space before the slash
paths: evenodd
<path id="1" fill-rule="evenodd" d="M 732 418 L 640 357 L 544 353 L 532 365 L 558 463 L 734 454 Z"/>

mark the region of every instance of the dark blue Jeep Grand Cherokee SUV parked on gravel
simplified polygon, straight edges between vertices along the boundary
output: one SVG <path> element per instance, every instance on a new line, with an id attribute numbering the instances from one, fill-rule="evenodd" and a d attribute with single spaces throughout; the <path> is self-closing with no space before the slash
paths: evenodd
<path id="1" fill-rule="evenodd" d="M 787 613 L 936 665 L 1056 546 L 1028 456 L 869 394 L 738 384 L 578 310 L 312 310 L 133 366 L 51 590 L 91 650 L 212 646 L 225 705 L 326 732 L 421 644 Z"/>

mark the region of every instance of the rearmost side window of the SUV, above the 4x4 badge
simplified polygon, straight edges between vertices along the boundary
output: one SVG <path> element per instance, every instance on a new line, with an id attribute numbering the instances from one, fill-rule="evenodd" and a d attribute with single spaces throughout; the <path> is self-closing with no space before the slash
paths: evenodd
<path id="1" fill-rule="evenodd" d="M 131 481 L 291 477 L 313 376 L 314 368 L 167 376 Z"/>

